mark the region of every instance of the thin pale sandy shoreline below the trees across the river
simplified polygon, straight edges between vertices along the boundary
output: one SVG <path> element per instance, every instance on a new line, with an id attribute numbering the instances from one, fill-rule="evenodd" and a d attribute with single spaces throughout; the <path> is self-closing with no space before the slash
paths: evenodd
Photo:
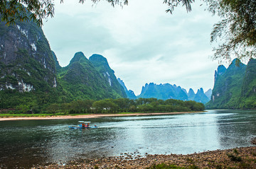
<path id="1" fill-rule="evenodd" d="M 0 117 L 0 121 L 90 119 L 90 118 L 99 118 L 99 117 L 120 117 L 120 116 L 140 116 L 140 115 L 179 115 L 179 114 L 188 114 L 188 113 L 194 113 L 194 112 L 150 112 L 150 113 L 129 113 L 129 114 L 58 115 L 58 116 L 46 116 L 46 117 Z"/>

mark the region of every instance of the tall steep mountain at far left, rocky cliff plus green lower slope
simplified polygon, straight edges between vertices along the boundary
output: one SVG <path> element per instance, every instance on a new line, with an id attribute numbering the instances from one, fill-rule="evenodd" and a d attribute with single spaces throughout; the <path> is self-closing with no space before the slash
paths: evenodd
<path id="1" fill-rule="evenodd" d="M 0 108 L 40 112 L 57 100 L 55 62 L 35 23 L 0 23 Z"/>

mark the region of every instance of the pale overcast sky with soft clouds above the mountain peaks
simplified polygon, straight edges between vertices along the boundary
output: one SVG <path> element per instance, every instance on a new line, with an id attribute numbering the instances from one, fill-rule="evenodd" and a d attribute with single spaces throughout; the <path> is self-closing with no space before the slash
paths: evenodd
<path id="1" fill-rule="evenodd" d="M 129 0 L 123 8 L 105 1 L 55 1 L 55 16 L 43 31 L 60 66 L 75 52 L 89 58 L 102 54 L 117 78 L 138 95 L 145 83 L 171 83 L 207 91 L 213 88 L 217 61 L 212 61 L 210 32 L 218 18 L 197 1 L 192 12 L 175 8 L 173 15 L 163 0 Z M 203 5 L 201 5 L 203 4 Z"/>

